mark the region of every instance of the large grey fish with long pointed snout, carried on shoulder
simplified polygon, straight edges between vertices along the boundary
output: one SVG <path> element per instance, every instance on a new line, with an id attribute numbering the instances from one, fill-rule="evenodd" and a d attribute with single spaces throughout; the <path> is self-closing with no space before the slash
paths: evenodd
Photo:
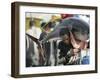
<path id="1" fill-rule="evenodd" d="M 89 40 L 89 24 L 82 19 L 70 17 L 62 20 L 62 22 L 55 26 L 54 30 L 48 34 L 42 41 L 48 41 L 53 38 L 60 38 L 61 34 L 65 31 L 71 31 L 74 37 L 81 41 Z"/>

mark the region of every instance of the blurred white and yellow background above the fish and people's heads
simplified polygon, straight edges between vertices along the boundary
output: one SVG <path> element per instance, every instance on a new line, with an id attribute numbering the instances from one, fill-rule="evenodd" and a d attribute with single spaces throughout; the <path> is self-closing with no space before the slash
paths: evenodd
<path id="1" fill-rule="evenodd" d="M 69 17 L 77 17 L 81 18 L 87 23 L 89 23 L 89 15 L 83 15 L 83 14 L 49 14 L 49 13 L 32 13 L 32 12 L 26 12 L 26 30 L 30 27 L 30 21 L 33 21 L 34 26 L 41 28 L 42 22 L 52 22 L 57 25 L 62 19 L 69 18 Z"/>

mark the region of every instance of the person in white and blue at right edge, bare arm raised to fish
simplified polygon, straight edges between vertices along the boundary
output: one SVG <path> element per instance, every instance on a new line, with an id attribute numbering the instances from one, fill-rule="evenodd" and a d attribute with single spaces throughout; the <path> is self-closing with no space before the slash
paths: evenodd
<path id="1" fill-rule="evenodd" d="M 80 64 L 89 64 L 89 42 L 76 40 L 72 32 L 70 32 L 71 44 L 77 50 L 80 50 Z M 77 54 L 76 54 L 77 55 Z"/>

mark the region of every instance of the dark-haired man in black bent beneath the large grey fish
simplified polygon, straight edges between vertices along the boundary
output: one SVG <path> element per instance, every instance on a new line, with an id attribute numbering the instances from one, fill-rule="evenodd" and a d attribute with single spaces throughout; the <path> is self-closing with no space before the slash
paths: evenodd
<path id="1" fill-rule="evenodd" d="M 70 58 L 70 56 L 67 56 L 67 53 L 70 49 L 73 48 L 70 42 L 69 30 L 67 28 L 61 29 L 60 36 L 62 38 L 62 41 L 60 41 L 58 44 L 58 49 L 60 50 L 59 63 L 63 63 L 63 65 L 66 65 Z"/>

